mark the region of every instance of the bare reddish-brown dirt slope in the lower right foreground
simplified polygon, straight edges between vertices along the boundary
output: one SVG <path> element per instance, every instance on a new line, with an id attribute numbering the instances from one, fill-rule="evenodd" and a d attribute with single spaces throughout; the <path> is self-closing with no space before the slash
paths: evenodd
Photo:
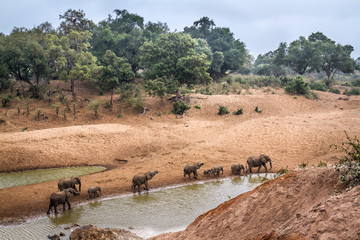
<path id="1" fill-rule="evenodd" d="M 334 169 L 294 172 L 152 239 L 360 239 L 360 186 L 336 196 L 337 181 Z"/>

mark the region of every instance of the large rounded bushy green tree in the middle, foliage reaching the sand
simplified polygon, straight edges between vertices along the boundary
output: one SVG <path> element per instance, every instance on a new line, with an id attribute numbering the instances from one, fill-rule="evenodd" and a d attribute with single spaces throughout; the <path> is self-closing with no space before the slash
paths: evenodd
<path id="1" fill-rule="evenodd" d="M 165 86 L 166 93 L 172 94 L 183 84 L 210 82 L 206 72 L 210 62 L 205 54 L 195 51 L 196 46 L 196 40 L 184 33 L 162 34 L 155 42 L 145 42 L 140 48 L 140 58 L 145 78 L 151 80 L 147 82 L 147 89 Z"/>

